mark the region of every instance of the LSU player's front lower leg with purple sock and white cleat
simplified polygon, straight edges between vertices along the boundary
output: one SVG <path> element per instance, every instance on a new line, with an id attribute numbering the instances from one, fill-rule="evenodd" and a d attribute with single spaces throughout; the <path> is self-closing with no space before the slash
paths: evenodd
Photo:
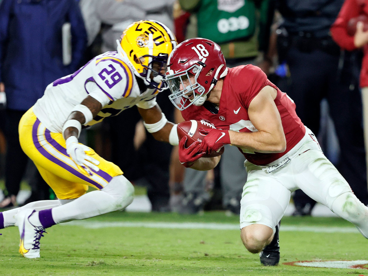
<path id="1" fill-rule="evenodd" d="M 61 222 L 86 219 L 122 210 L 133 201 L 134 187 L 124 176 L 115 176 L 96 190 L 55 208 L 37 212 L 24 209 L 16 216 L 20 234 L 19 252 L 26 258 L 40 257 L 40 238 L 45 229 Z"/>

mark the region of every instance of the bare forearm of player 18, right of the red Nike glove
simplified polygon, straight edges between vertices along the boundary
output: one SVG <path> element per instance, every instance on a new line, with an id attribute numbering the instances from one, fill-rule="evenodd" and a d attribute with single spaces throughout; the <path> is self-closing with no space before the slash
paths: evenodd
<path id="1" fill-rule="evenodd" d="M 284 152 L 286 149 L 285 135 L 281 133 L 229 131 L 229 135 L 232 145 L 248 151 L 276 153 Z"/>

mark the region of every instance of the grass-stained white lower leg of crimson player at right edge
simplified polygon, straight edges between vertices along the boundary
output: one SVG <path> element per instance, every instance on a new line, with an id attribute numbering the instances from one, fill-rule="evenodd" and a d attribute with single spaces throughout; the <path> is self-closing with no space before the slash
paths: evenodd
<path id="1" fill-rule="evenodd" d="M 353 223 L 368 239 L 368 207 L 362 204 L 352 192 L 345 192 L 333 201 L 332 212 Z"/>

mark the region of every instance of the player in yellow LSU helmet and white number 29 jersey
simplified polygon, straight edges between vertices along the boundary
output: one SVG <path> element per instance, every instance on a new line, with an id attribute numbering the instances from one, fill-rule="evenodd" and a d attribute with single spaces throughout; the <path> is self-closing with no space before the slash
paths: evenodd
<path id="1" fill-rule="evenodd" d="M 24 114 L 19 124 L 22 149 L 57 200 L 0 213 L 0 228 L 18 226 L 23 256 L 40 256 L 39 242 L 47 227 L 122 210 L 133 201 L 134 187 L 120 168 L 78 143 L 82 127 L 137 106 L 157 140 L 178 144 L 176 127 L 156 103 L 156 95 L 167 87 L 162 79 L 176 44 L 162 23 L 134 22 L 117 40 L 117 52 L 100 54 L 48 85 Z M 86 193 L 88 186 L 97 190 Z"/>

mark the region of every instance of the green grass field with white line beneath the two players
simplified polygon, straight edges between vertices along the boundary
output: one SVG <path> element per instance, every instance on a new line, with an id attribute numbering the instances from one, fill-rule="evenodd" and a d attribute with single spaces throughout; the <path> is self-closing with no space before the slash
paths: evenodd
<path id="1" fill-rule="evenodd" d="M 367 269 L 283 264 L 367 260 L 368 241 L 335 217 L 284 217 L 277 267 L 261 266 L 258 255 L 245 250 L 238 217 L 224 212 L 114 212 L 48 232 L 41 258 L 25 259 L 17 227 L 1 230 L 0 275 L 368 275 Z"/>

